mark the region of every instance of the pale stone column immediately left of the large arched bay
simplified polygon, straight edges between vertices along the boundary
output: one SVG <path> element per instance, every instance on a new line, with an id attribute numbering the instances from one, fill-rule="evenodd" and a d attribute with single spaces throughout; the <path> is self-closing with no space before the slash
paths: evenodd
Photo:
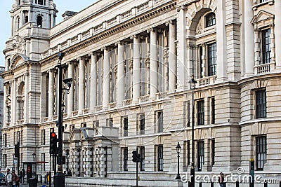
<path id="1" fill-rule="evenodd" d="M 178 7 L 178 90 L 187 88 L 187 44 L 186 44 L 186 11 L 185 6 Z"/>

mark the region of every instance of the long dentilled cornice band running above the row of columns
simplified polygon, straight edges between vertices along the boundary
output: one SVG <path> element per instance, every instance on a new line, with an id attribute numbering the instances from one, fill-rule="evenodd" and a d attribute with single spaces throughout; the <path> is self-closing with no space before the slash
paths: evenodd
<path id="1" fill-rule="evenodd" d="M 162 6 L 157 7 L 157 9 L 152 9 L 151 11 L 138 15 L 137 17 L 135 17 L 131 20 L 127 20 L 126 22 L 123 22 L 120 25 L 111 27 L 109 30 L 100 32 L 98 35 L 92 36 L 91 38 L 86 39 L 85 41 L 82 41 L 81 43 L 77 43 L 74 46 L 70 46 L 69 48 L 64 49 L 63 52 L 65 52 L 65 55 L 70 55 L 71 53 L 74 53 L 75 51 L 80 50 L 81 48 L 85 48 L 86 46 L 90 46 L 93 43 L 97 43 L 98 41 L 101 41 L 109 36 L 112 36 L 113 34 L 122 32 L 127 28 L 140 24 L 141 22 L 145 22 L 145 20 L 156 17 L 163 13 L 166 13 L 166 11 L 170 11 L 171 9 L 174 9 L 174 8 L 176 8 L 176 2 L 169 2 L 167 4 L 163 4 Z M 108 43 L 108 45 L 110 45 L 110 43 Z M 43 66 L 44 64 L 53 62 L 54 60 L 58 60 L 58 57 L 56 54 L 57 53 L 55 53 L 49 57 L 46 57 L 46 59 L 44 59 L 44 60 L 41 60 L 41 62 L 40 62 L 41 66 Z"/>

